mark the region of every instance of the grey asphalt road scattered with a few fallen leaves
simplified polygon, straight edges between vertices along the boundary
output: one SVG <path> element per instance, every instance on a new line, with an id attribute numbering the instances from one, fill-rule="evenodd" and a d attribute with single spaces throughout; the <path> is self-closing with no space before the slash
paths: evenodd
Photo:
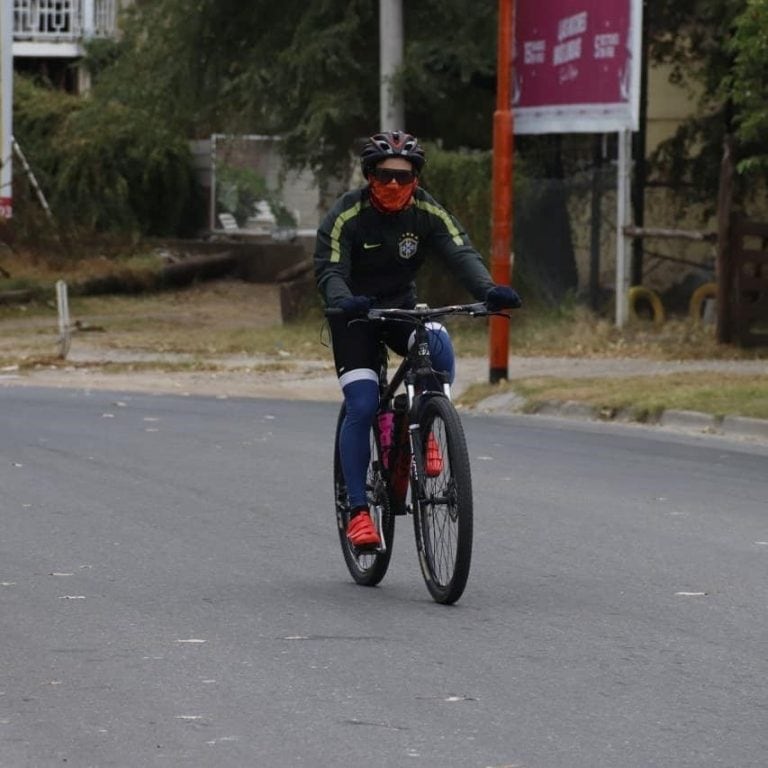
<path id="1" fill-rule="evenodd" d="M 0 389 L 0 766 L 763 768 L 768 448 L 467 416 L 473 570 L 376 589 L 329 403 Z"/>

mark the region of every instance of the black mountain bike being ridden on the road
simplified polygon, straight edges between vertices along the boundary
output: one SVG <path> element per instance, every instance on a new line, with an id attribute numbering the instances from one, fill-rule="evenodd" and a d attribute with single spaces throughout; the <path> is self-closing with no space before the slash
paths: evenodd
<path id="1" fill-rule="evenodd" d="M 326 310 L 338 315 L 338 310 Z M 376 586 L 392 556 L 395 517 L 412 514 L 419 565 L 432 598 L 455 603 L 464 592 L 472 560 L 472 477 L 459 415 L 451 402 L 447 374 L 435 371 L 428 345 L 427 323 L 448 315 L 487 317 L 484 303 L 430 309 L 371 309 L 350 322 L 398 321 L 414 325 L 415 340 L 388 379 L 389 355 L 380 345 L 379 408 L 371 424 L 371 460 L 366 493 L 381 545 L 357 549 L 347 539 L 349 503 L 339 455 L 342 404 L 336 424 L 333 479 L 341 549 L 355 582 Z M 401 385 L 405 391 L 398 393 Z M 410 500 L 408 491 L 410 490 Z"/>

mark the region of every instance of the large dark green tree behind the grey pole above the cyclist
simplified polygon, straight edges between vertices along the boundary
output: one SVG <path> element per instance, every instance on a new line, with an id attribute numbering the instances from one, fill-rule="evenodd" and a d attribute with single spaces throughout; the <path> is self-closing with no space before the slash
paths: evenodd
<path id="1" fill-rule="evenodd" d="M 495 12 L 495 0 L 405 5 L 404 127 L 446 146 L 490 146 Z M 90 60 L 97 99 L 140 107 L 189 138 L 280 133 L 293 163 L 324 175 L 378 126 L 370 0 L 140 0 L 120 42 L 97 42 Z"/>

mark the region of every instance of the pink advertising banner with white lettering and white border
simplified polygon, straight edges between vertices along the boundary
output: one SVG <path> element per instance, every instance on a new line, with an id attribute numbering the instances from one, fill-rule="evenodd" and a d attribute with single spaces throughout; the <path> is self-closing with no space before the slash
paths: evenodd
<path id="1" fill-rule="evenodd" d="M 517 0 L 515 133 L 637 130 L 642 0 Z"/>

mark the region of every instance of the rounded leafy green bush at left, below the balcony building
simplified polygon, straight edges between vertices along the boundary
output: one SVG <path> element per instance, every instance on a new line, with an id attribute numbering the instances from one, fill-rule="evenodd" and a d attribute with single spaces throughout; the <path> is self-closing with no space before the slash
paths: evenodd
<path id="1" fill-rule="evenodd" d="M 57 225 L 71 234 L 183 234 L 202 210 L 187 142 L 140 110 L 17 78 L 15 135 Z M 20 195 L 23 234 L 27 196 Z"/>

